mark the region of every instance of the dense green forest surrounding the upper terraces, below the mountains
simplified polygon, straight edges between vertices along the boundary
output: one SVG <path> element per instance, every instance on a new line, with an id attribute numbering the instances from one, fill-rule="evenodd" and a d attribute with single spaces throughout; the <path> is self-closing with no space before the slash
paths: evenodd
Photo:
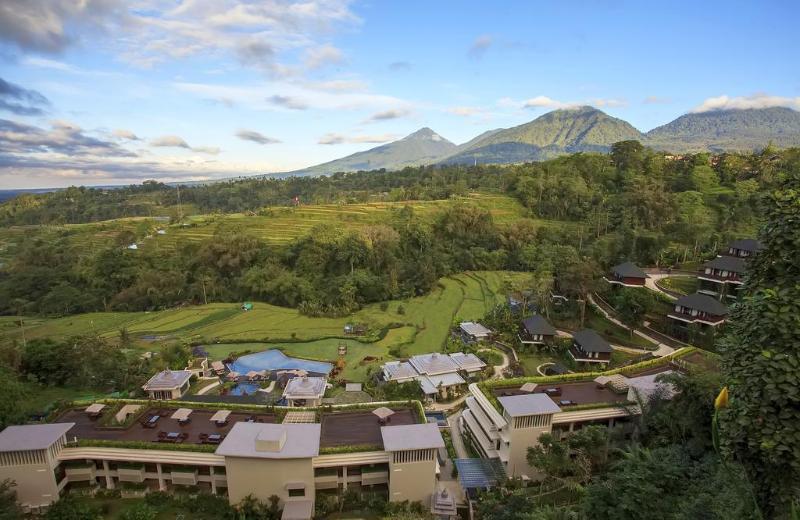
<path id="1" fill-rule="evenodd" d="M 565 293 L 580 293 L 580 280 L 617 261 L 671 266 L 752 235 L 761 194 L 780 181 L 781 172 L 796 169 L 799 157 L 797 149 L 769 148 L 675 157 L 625 141 L 608 155 L 579 153 L 505 167 L 246 179 L 180 193 L 146 182 L 23 195 L 0 206 L 0 225 L 21 226 L 26 235 L 0 272 L 0 312 L 60 316 L 253 299 L 336 316 L 426 293 L 440 277 L 465 270 L 536 272 Z M 523 212 L 498 222 L 488 209 L 459 203 L 473 192 L 507 194 Z M 213 236 L 176 250 L 127 249 L 148 232 L 146 226 L 120 230 L 107 245 L 88 248 L 70 247 L 68 233 L 47 240 L 37 235 L 53 226 L 120 217 L 180 222 L 185 215 L 176 211 L 183 208 L 268 219 L 270 208 L 288 206 L 294 197 L 302 204 L 450 203 L 425 214 L 401 206 L 383 222 L 357 229 L 322 223 L 280 245 L 225 218 Z"/>

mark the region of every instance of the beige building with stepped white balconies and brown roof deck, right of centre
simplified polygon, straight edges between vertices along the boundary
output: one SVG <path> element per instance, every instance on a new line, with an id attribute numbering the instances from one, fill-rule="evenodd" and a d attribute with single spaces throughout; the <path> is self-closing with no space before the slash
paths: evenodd
<path id="1" fill-rule="evenodd" d="M 664 359 L 638 371 L 631 367 L 628 376 L 611 373 L 571 381 L 531 378 L 513 386 L 503 386 L 502 381 L 471 384 L 459 426 L 481 457 L 499 461 L 509 477 L 536 479 L 527 452 L 538 445 L 543 433 L 562 439 L 588 425 L 617 426 L 624 434 L 631 433 L 631 417 L 640 413 L 642 402 L 657 392 L 666 398 L 674 392 L 661 378 L 679 366 L 704 360 L 689 349 L 676 358 L 680 355 L 685 355 L 680 363 Z"/>

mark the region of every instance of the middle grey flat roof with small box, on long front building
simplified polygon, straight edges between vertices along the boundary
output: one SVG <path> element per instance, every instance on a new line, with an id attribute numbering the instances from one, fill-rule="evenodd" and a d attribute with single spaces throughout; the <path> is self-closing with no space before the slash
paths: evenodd
<path id="1" fill-rule="evenodd" d="M 219 445 L 217 455 L 257 459 L 304 459 L 319 455 L 319 424 L 237 422 Z M 279 439 L 280 449 L 258 450 L 256 441 Z"/>

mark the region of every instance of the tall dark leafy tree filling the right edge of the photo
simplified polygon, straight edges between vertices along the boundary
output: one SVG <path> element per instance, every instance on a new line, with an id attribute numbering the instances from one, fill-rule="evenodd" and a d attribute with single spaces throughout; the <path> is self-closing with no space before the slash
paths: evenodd
<path id="1" fill-rule="evenodd" d="M 766 200 L 764 250 L 750 261 L 718 348 L 730 389 L 726 450 L 745 468 L 766 518 L 800 500 L 800 167 Z"/>

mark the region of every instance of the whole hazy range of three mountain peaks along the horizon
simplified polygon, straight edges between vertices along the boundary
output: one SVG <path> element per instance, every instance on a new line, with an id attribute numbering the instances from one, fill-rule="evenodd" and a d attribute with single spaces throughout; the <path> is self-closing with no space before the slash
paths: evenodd
<path id="1" fill-rule="evenodd" d="M 612 144 L 630 139 L 676 153 L 750 151 L 769 143 L 781 148 L 800 146 L 800 112 L 774 107 L 690 113 L 643 134 L 622 119 L 584 106 L 554 110 L 513 128 L 489 130 L 458 146 L 423 128 L 399 141 L 342 159 L 274 175 L 543 161 L 575 152 L 608 152 Z"/>

